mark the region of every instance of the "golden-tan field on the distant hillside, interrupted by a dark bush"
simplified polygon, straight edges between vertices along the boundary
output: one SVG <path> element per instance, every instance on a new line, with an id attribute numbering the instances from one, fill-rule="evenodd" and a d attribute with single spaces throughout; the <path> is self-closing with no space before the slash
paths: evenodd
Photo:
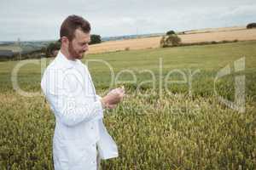
<path id="1" fill-rule="evenodd" d="M 193 42 L 220 42 L 224 40 L 246 41 L 256 40 L 256 29 L 247 30 L 245 27 L 230 27 L 217 29 L 204 29 L 199 31 L 186 31 L 179 35 L 183 43 Z M 161 37 L 146 37 L 129 40 L 102 42 L 90 46 L 90 54 L 119 51 L 127 49 L 159 48 Z"/>

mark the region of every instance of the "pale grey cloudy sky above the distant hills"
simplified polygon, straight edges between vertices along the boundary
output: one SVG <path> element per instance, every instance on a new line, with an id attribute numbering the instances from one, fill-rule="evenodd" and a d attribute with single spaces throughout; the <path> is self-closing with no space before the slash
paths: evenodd
<path id="1" fill-rule="evenodd" d="M 56 40 L 70 14 L 102 37 L 256 22 L 255 0 L 0 0 L 0 41 Z"/>

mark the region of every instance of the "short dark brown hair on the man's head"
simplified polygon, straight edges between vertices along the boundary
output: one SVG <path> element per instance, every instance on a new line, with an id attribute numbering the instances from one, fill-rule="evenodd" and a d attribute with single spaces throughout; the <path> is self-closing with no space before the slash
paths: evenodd
<path id="1" fill-rule="evenodd" d="M 69 41 L 73 40 L 74 31 L 76 29 L 81 29 L 84 33 L 90 32 L 90 23 L 84 20 L 78 15 L 69 15 L 66 20 L 61 24 L 60 37 L 67 37 Z"/>

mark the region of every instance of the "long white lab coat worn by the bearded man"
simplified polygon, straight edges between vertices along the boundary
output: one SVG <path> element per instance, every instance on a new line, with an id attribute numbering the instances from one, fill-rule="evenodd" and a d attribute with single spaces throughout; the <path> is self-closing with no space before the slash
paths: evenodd
<path id="1" fill-rule="evenodd" d="M 96 169 L 96 145 L 102 159 L 118 156 L 86 65 L 60 51 L 44 71 L 41 87 L 55 114 L 55 170 Z"/>

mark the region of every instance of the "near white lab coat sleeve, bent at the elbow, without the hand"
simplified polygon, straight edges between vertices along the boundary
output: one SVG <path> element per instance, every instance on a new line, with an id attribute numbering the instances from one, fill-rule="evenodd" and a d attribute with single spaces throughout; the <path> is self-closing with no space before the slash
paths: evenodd
<path id="1" fill-rule="evenodd" d="M 76 126 L 80 122 L 99 120 L 103 118 L 102 102 L 96 99 L 95 102 L 78 103 L 75 96 L 68 94 L 70 87 L 59 87 L 61 85 L 59 75 L 57 78 L 45 73 L 41 82 L 41 87 L 49 101 L 49 105 L 60 121 L 67 126 Z M 48 81 L 47 81 L 48 80 Z"/>

